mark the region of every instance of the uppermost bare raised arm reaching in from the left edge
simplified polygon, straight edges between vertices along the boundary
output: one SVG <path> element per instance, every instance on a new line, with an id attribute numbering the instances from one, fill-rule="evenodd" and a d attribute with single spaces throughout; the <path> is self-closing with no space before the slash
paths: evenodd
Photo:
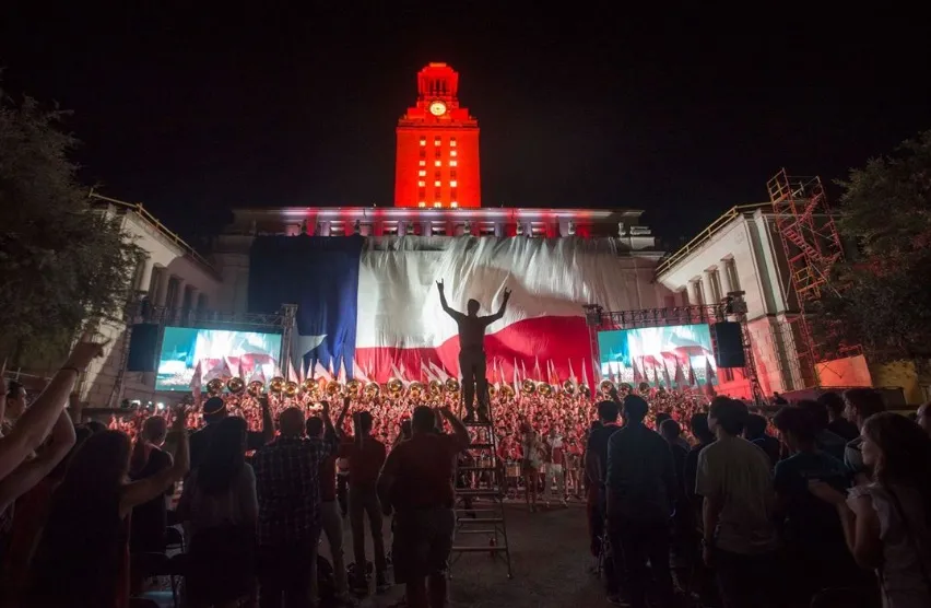
<path id="1" fill-rule="evenodd" d="M 25 460 L 48 435 L 58 419 L 68 396 L 74 389 L 78 376 L 92 360 L 104 354 L 104 344 L 92 342 L 85 336 L 71 351 L 64 365 L 52 376 L 35 402 L 20 417 L 10 434 L 0 437 L 0 479 Z"/>

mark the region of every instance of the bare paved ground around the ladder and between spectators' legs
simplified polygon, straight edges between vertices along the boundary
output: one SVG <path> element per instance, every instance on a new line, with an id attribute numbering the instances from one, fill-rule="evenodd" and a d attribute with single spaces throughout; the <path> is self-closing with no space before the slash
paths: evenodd
<path id="1" fill-rule="evenodd" d="M 476 505 L 478 506 L 478 505 Z M 589 572 L 585 506 L 569 503 L 568 508 L 553 507 L 528 513 L 522 504 L 506 508 L 511 547 L 514 578 L 507 577 L 507 565 L 490 553 L 466 553 L 452 566 L 450 605 L 452 608 L 588 608 L 610 606 L 601 583 Z M 352 536 L 344 522 L 344 550 L 352 561 Z M 386 519 L 386 537 L 389 522 Z M 388 540 L 386 539 L 386 543 Z M 372 556 L 370 539 L 368 556 Z M 323 541 L 321 554 L 329 558 Z M 403 595 L 403 587 L 392 587 L 382 595 L 372 595 L 360 608 L 386 608 Z M 167 592 L 146 594 L 161 606 L 170 606 Z"/>

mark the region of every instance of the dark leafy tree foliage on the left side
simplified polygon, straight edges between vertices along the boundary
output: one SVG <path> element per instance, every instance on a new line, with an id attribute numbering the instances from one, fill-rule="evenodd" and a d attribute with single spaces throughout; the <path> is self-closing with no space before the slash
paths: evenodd
<path id="1" fill-rule="evenodd" d="M 141 249 L 94 210 L 68 155 L 67 113 L 0 91 L 0 344 L 32 359 L 89 318 L 119 318 Z"/>

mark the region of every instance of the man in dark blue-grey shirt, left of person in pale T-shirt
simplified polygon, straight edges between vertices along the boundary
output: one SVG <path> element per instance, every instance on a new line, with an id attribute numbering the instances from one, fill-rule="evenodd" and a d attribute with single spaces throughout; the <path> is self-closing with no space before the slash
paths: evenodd
<path id="1" fill-rule="evenodd" d="M 650 573 L 659 606 L 673 601 L 669 521 L 676 495 L 675 466 L 665 440 L 644 425 L 648 410 L 643 397 L 626 396 L 624 426 L 608 441 L 608 530 L 612 547 L 621 547 L 624 553 L 634 608 L 647 606 Z"/>

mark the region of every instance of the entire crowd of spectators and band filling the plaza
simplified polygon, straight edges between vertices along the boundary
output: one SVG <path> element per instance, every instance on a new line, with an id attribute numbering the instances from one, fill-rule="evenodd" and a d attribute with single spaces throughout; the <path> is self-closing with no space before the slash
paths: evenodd
<path id="1" fill-rule="evenodd" d="M 0 397 L 0 606 L 128 606 L 167 572 L 195 607 L 351 604 L 396 583 L 406 606 L 446 605 L 455 484 L 482 482 L 455 463 L 487 439 L 456 395 L 360 395 L 339 411 L 204 395 L 108 429 L 73 399 L 99 354 L 82 340 L 32 404 L 12 383 Z M 931 412 L 884 409 L 852 389 L 764 416 L 649 386 L 491 404 L 527 507 L 541 488 L 547 504 L 582 498 L 608 598 L 637 608 L 931 605 Z"/>

